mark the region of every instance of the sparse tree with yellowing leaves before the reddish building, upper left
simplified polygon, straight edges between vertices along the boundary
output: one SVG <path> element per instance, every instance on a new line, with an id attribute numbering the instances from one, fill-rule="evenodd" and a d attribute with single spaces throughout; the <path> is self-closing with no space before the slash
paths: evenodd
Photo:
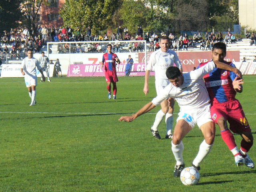
<path id="1" fill-rule="evenodd" d="M 21 0 L 20 8 L 23 13 L 22 23 L 28 26 L 30 30 L 33 28 L 36 32 L 36 25 L 38 23 L 38 12 L 42 4 L 48 5 L 47 0 Z M 30 31 L 31 32 L 31 31 Z"/>

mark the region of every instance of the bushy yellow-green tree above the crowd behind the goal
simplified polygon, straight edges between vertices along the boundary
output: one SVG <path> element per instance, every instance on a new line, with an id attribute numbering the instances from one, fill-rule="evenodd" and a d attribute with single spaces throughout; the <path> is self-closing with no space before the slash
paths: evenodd
<path id="1" fill-rule="evenodd" d="M 66 26 L 98 32 L 112 26 L 112 17 L 122 1 L 119 0 L 66 0 L 60 15 Z"/>

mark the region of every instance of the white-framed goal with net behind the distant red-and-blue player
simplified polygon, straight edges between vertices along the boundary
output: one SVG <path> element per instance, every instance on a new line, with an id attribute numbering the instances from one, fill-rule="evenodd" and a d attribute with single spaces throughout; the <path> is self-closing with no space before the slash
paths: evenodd
<path id="1" fill-rule="evenodd" d="M 112 44 L 112 52 L 117 54 L 120 64 L 116 66 L 118 76 L 144 76 L 149 44 L 145 40 L 133 41 L 86 41 L 86 42 L 48 42 L 47 54 L 53 64 L 58 59 L 62 74 L 68 77 L 105 76 L 100 68 L 107 45 Z M 128 64 L 128 56 L 133 64 Z"/>

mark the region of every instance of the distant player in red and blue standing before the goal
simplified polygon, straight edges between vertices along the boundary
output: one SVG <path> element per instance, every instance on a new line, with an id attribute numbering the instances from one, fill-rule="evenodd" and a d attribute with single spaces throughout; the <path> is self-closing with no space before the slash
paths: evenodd
<path id="1" fill-rule="evenodd" d="M 108 98 L 111 99 L 111 83 L 113 84 L 113 99 L 116 99 L 116 82 L 118 82 L 118 78 L 116 75 L 116 63 L 120 64 L 120 60 L 118 56 L 112 52 L 112 45 L 107 45 L 108 52 L 103 54 L 101 68 L 104 66 L 105 77 L 107 82 L 107 90 L 108 90 Z"/>

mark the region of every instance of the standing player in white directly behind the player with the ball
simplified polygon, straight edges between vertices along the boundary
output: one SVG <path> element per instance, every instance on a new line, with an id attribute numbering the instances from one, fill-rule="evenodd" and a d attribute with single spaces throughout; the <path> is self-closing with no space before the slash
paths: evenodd
<path id="1" fill-rule="evenodd" d="M 156 93 L 157 95 L 168 85 L 170 84 L 168 78 L 166 77 L 166 69 L 170 66 L 176 64 L 182 73 L 182 64 L 178 55 L 169 49 L 170 40 L 167 36 L 162 36 L 160 39 L 160 49 L 153 52 L 150 56 L 150 59 L 146 68 L 145 75 L 145 84 L 144 84 L 144 93 L 147 95 L 149 92 L 148 80 L 150 76 L 150 71 L 154 68 L 155 70 L 155 84 L 156 84 Z M 167 99 L 161 103 L 161 110 L 156 114 L 156 118 L 153 126 L 151 127 L 151 132 L 153 136 L 157 139 L 161 139 L 161 136 L 158 132 L 158 125 L 165 116 L 166 122 L 166 136 L 165 138 L 172 138 L 172 126 L 173 126 L 173 108 L 174 108 L 174 99 L 169 100 L 168 104 Z"/>

